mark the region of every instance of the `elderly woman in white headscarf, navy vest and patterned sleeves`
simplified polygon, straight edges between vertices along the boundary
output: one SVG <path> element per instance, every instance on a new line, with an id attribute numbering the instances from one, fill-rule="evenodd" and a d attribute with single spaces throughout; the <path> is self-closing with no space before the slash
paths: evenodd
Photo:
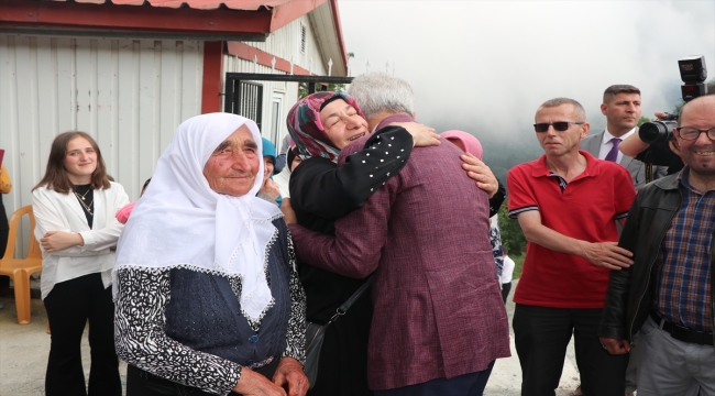
<path id="1" fill-rule="evenodd" d="M 128 396 L 305 395 L 305 295 L 245 118 L 182 123 L 119 240 Z"/>

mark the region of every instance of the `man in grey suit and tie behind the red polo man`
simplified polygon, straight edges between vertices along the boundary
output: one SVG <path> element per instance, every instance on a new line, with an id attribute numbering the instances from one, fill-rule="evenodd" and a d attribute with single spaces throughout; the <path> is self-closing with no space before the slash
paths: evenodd
<path id="1" fill-rule="evenodd" d="M 618 144 L 638 133 L 640 120 L 640 89 L 629 85 L 613 85 L 603 92 L 601 112 L 606 116 L 606 130 L 588 135 L 581 141 L 580 148 L 598 160 L 618 163 L 626 167 L 639 189 L 646 184 L 646 165 L 618 151 Z M 667 167 L 653 166 L 653 180 L 666 176 Z"/>

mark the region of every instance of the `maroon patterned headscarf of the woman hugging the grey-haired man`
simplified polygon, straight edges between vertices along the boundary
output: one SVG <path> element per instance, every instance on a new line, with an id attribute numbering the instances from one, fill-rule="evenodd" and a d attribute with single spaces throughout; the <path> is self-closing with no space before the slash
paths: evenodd
<path id="1" fill-rule="evenodd" d="M 328 100 L 342 99 L 355 108 L 360 117 L 365 118 L 358 103 L 344 92 L 320 91 L 309 95 L 288 111 L 286 122 L 290 138 L 304 156 L 321 156 L 336 161 L 340 150 L 333 147 L 320 122 L 320 107 Z"/>

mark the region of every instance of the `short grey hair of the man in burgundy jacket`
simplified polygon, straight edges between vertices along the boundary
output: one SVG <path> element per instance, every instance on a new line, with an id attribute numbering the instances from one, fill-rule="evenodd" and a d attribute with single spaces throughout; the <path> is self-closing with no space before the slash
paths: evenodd
<path id="1" fill-rule="evenodd" d="M 415 92 L 407 81 L 384 73 L 366 73 L 355 77 L 348 88 L 367 119 L 381 111 L 413 116 Z"/>

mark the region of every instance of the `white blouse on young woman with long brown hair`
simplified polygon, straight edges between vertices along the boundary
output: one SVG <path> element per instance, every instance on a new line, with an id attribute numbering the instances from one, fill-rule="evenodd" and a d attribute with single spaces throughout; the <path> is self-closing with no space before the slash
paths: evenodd
<path id="1" fill-rule="evenodd" d="M 85 240 L 82 246 L 67 248 L 47 253 L 42 250 L 42 280 L 40 289 L 45 299 L 55 284 L 84 275 L 101 273 L 105 287 L 112 283 L 114 252 L 122 231 L 114 215 L 129 204 L 124 187 L 110 183 L 108 189 L 94 190 L 94 219 L 89 228 L 85 212 L 74 194 L 59 194 L 40 187 L 32 191 L 32 210 L 35 215 L 35 239 L 40 241 L 47 231 L 76 232 Z"/>

